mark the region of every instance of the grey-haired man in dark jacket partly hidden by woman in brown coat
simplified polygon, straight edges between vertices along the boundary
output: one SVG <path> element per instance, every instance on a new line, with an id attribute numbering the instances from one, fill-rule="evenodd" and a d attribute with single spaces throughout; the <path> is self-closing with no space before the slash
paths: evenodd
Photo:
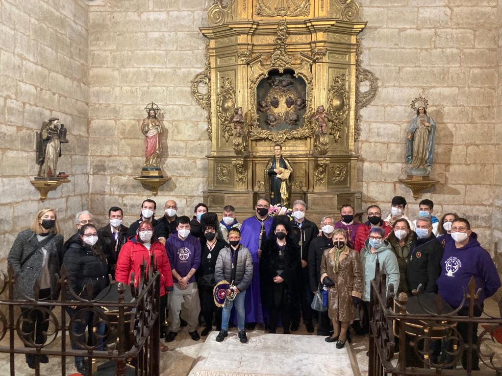
<path id="1" fill-rule="evenodd" d="M 332 217 L 324 217 L 321 221 L 322 235 L 316 237 L 310 242 L 308 253 L 308 268 L 310 289 L 315 293 L 321 283 L 321 260 L 324 250 L 333 247 L 333 231 L 335 231 L 334 220 Z M 328 311 L 319 312 L 319 325 L 317 335 L 329 335 L 331 320 L 328 317 Z"/>

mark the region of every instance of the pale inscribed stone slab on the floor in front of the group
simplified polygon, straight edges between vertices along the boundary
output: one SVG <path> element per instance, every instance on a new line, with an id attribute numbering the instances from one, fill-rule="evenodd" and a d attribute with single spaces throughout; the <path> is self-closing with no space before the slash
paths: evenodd
<path id="1" fill-rule="evenodd" d="M 246 344 L 237 332 L 216 342 L 217 332 L 208 335 L 189 376 L 352 376 L 349 345 L 342 349 L 323 336 L 248 333 Z"/>

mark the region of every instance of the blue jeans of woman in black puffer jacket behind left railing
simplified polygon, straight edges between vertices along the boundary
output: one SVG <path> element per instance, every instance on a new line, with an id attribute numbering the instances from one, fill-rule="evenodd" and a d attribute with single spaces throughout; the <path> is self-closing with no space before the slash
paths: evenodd
<path id="1" fill-rule="evenodd" d="M 72 319 L 77 313 L 79 309 L 73 309 L 70 307 L 66 308 L 66 312 L 68 312 L 68 315 L 70 316 L 70 319 Z M 102 350 L 103 349 L 103 342 L 104 342 L 104 333 L 106 330 L 106 326 L 104 322 L 99 322 L 97 324 L 97 334 L 99 335 L 96 336 L 92 332 L 92 325 L 94 324 L 94 314 L 90 311 L 86 311 L 83 314 L 80 314 L 75 321 L 73 321 L 73 325 L 71 328 L 71 331 L 76 335 L 74 340 L 71 340 L 72 338 L 70 337 L 70 342 L 71 342 L 71 348 L 74 350 L 85 350 L 84 346 L 86 344 L 92 343 L 93 346 L 98 344 L 99 346 L 96 348 L 96 350 Z M 90 337 L 90 340 L 87 340 L 85 338 L 85 329 L 89 329 L 88 336 Z M 83 360 L 83 356 L 75 356 L 75 361 L 80 361 Z"/>

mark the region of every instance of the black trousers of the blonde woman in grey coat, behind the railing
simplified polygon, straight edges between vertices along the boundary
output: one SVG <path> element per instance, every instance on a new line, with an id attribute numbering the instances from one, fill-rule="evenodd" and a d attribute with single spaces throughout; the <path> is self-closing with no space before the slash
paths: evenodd
<path id="1" fill-rule="evenodd" d="M 40 299 L 46 299 L 51 296 L 51 289 L 41 289 L 40 290 Z M 51 306 L 41 306 L 41 308 L 45 308 L 50 310 Z M 43 344 L 47 340 L 44 331 L 47 332 L 49 328 L 49 321 L 47 321 L 48 314 L 44 311 L 38 310 L 36 307 L 25 308 L 21 307 L 21 313 L 23 314 L 23 325 L 21 330 L 23 333 L 23 338 L 28 343 L 36 343 Z M 25 347 L 33 347 L 25 344 Z M 29 355 L 27 355 L 28 357 Z"/>

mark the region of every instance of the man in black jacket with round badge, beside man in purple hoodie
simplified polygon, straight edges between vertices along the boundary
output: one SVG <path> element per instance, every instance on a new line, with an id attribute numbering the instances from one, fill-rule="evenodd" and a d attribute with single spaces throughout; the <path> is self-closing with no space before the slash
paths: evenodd
<path id="1" fill-rule="evenodd" d="M 406 267 L 410 292 L 422 284 L 421 293 L 437 293 L 436 280 L 441 273 L 443 247 L 432 232 L 430 217 L 419 217 L 415 231 L 417 240 L 412 244 L 412 251 Z"/>

